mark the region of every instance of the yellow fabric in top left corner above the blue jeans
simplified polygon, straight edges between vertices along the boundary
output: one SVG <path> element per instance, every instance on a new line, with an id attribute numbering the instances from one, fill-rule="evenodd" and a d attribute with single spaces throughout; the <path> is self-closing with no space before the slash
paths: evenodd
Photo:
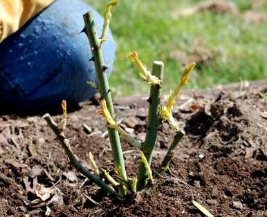
<path id="1" fill-rule="evenodd" d="M 55 0 L 0 0 L 0 43 Z"/>

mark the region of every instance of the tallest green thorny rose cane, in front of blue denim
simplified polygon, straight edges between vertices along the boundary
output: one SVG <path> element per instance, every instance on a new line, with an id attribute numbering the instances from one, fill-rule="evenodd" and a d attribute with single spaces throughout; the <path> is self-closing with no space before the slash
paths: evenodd
<path id="1" fill-rule="evenodd" d="M 109 83 L 107 79 L 107 66 L 104 65 L 104 58 L 101 50 L 101 40 L 98 38 L 95 30 L 95 23 L 93 21 L 93 12 L 84 14 L 85 33 L 89 39 L 91 51 L 93 55 L 93 62 L 95 64 L 95 71 L 98 78 L 98 88 L 101 97 L 106 100 L 107 108 L 114 118 L 114 109 L 111 99 L 111 91 L 109 89 Z M 120 144 L 120 138 L 118 131 L 108 128 L 109 140 L 111 142 L 111 148 L 113 151 L 113 159 L 116 170 L 123 180 L 127 180 L 127 173 L 125 171 L 125 162 L 122 155 L 122 147 Z"/>

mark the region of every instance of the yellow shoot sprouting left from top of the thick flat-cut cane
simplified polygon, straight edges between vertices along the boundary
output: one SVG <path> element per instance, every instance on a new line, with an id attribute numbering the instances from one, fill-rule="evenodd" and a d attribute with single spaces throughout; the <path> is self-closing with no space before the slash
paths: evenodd
<path id="1" fill-rule="evenodd" d="M 131 52 L 128 58 L 131 59 L 136 64 L 136 66 L 140 69 L 141 71 L 140 76 L 142 77 L 142 79 L 144 79 L 148 84 L 160 85 L 160 79 L 156 77 L 155 75 L 152 75 L 151 72 L 147 70 L 145 65 L 142 64 L 142 62 L 140 61 L 138 57 L 138 53 L 136 51 Z"/>

